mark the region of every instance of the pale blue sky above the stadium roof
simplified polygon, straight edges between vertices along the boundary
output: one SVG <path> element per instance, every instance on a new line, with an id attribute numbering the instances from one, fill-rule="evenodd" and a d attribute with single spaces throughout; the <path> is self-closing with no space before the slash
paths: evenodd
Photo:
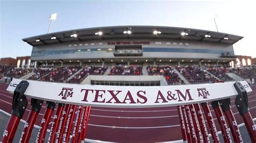
<path id="1" fill-rule="evenodd" d="M 51 32 L 86 27 L 158 25 L 237 34 L 235 54 L 256 57 L 254 1 L 5 1 L 0 0 L 0 58 L 30 55 L 22 39 L 45 34 L 51 13 L 58 13 Z"/>

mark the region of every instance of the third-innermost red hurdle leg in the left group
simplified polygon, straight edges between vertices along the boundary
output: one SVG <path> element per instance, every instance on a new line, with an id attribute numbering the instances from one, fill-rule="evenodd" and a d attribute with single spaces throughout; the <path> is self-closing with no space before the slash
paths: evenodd
<path id="1" fill-rule="evenodd" d="M 63 135 L 63 142 L 69 142 L 71 127 L 73 124 L 73 119 L 74 119 L 76 109 L 77 109 L 77 105 L 72 105 L 70 112 L 69 112 L 68 119 L 66 120 L 66 127 L 65 127 L 66 129 L 65 129 L 65 133 Z"/>

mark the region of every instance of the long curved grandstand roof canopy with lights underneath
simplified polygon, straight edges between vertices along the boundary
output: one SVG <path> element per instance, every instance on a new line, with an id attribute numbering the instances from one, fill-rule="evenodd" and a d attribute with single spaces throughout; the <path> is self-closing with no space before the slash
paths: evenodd
<path id="1" fill-rule="evenodd" d="M 131 34 L 125 34 L 124 31 L 130 30 Z M 160 34 L 153 34 L 153 31 L 160 31 Z M 102 32 L 102 35 L 96 34 Z M 181 35 L 181 33 L 184 32 Z M 77 37 L 71 35 L 77 34 Z M 210 37 L 207 37 L 210 35 Z M 97 39 L 129 39 L 129 38 L 150 38 L 150 39 L 186 39 L 196 41 L 219 42 L 234 44 L 244 38 L 238 35 L 227 33 L 197 30 L 180 27 L 164 26 L 111 26 L 111 27 L 94 27 L 78 30 L 62 31 L 49 34 L 38 35 L 35 37 L 22 39 L 32 46 L 55 44 L 68 41 L 83 41 Z"/>

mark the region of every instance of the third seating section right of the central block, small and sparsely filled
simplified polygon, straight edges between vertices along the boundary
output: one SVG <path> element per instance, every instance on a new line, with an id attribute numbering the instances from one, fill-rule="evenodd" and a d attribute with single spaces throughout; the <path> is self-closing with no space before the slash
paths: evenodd
<path id="1" fill-rule="evenodd" d="M 210 68 L 207 71 L 218 77 L 221 81 L 234 81 L 233 78 L 226 75 L 226 73 L 228 73 L 227 68 Z"/>

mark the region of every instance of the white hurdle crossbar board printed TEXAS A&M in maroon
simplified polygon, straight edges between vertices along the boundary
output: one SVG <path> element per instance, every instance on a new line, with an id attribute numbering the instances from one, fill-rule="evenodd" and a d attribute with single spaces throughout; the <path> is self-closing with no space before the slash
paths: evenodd
<path id="1" fill-rule="evenodd" d="M 14 92 L 22 80 L 14 79 L 7 88 Z M 29 81 L 25 95 L 66 104 L 116 108 L 147 108 L 177 106 L 215 101 L 238 95 L 234 82 L 159 87 L 124 87 L 109 85 L 81 85 Z M 252 89 L 246 81 L 240 82 L 247 92 Z"/>

